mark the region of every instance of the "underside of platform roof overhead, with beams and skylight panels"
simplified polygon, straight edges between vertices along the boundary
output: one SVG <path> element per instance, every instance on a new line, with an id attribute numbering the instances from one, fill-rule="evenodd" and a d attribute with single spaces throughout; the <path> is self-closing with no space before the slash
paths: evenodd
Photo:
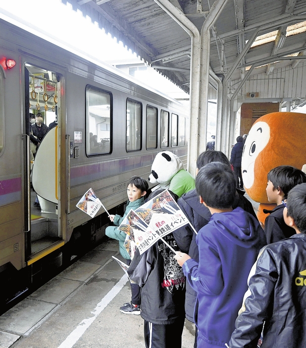
<path id="1" fill-rule="evenodd" d="M 190 36 L 154 0 L 61 1 L 98 22 L 106 33 L 189 92 Z M 213 0 L 170 2 L 201 32 Z M 228 0 L 210 35 L 210 67 L 216 74 L 226 75 L 248 41 L 259 35 L 265 36 L 246 52 L 232 79 L 243 77 L 251 65 L 256 66 L 252 74 L 265 71 L 267 75 L 274 68 L 295 67 L 306 54 L 306 0 Z"/>

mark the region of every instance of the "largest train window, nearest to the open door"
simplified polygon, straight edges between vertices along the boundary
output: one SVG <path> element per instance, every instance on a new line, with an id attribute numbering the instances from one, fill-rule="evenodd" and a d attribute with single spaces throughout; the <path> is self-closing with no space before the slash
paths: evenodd
<path id="1" fill-rule="evenodd" d="M 97 156 L 111 153 L 112 95 L 86 86 L 86 153 Z"/>

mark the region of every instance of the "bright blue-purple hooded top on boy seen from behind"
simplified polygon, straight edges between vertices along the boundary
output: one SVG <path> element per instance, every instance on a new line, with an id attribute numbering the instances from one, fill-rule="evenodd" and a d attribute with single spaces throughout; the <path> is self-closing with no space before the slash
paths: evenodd
<path id="1" fill-rule="evenodd" d="M 266 244 L 258 220 L 240 207 L 215 213 L 197 234 L 199 262 L 183 264 L 188 283 L 197 292 L 195 323 L 201 348 L 225 347 L 248 290 L 248 276 Z"/>

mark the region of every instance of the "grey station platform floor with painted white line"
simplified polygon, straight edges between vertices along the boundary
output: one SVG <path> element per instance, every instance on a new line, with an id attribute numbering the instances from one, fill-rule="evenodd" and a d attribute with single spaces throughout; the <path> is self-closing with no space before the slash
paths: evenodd
<path id="1" fill-rule="evenodd" d="M 123 314 L 131 300 L 118 241 L 107 240 L 0 316 L 0 348 L 143 348 L 144 320 Z M 187 319 L 183 348 L 193 348 Z"/>

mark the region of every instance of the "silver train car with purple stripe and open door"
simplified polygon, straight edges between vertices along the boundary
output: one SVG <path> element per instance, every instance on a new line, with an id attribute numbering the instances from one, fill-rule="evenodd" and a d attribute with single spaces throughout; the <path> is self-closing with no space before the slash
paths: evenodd
<path id="1" fill-rule="evenodd" d="M 55 122 L 37 148 L 30 113 Z M 127 181 L 148 178 L 156 153 L 186 164 L 188 129 L 175 100 L 0 20 L 0 303 L 102 239 L 104 210 L 76 207 L 88 189 L 122 212 Z"/>

